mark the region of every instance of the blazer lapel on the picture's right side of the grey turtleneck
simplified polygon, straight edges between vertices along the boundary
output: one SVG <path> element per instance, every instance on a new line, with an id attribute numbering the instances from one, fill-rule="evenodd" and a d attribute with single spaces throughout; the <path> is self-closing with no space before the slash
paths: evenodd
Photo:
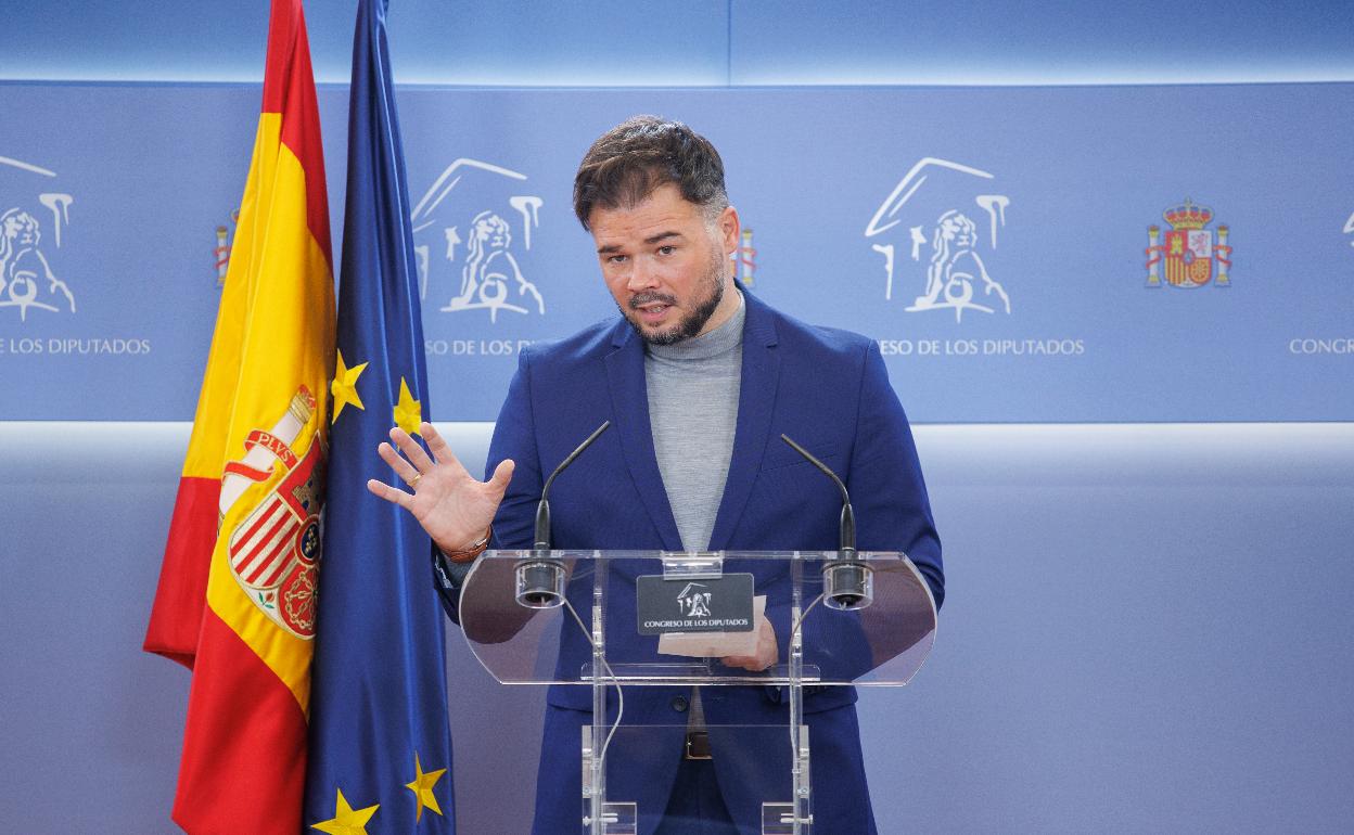
<path id="1" fill-rule="evenodd" d="M 728 461 L 724 495 L 719 502 L 709 549 L 728 547 L 743 507 L 751 495 L 761 470 L 762 455 L 770 438 L 776 411 L 776 387 L 780 383 L 780 355 L 776 351 L 776 322 L 766 304 L 753 298 L 742 284 L 747 304 L 743 323 L 743 367 L 738 392 L 738 425 L 734 429 L 734 455 Z M 655 466 L 657 467 L 657 466 Z M 670 512 L 669 512 L 670 514 Z"/>

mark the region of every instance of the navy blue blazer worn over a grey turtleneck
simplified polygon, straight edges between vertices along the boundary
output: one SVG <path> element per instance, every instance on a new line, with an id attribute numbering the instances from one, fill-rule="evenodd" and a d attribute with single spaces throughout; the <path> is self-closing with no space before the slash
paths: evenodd
<path id="1" fill-rule="evenodd" d="M 906 552 L 938 606 L 945 585 L 940 540 L 907 418 L 888 383 L 877 345 L 845 330 L 815 328 L 783 315 L 743 290 L 742 380 L 733 459 L 709 549 L 834 549 L 841 498 L 833 483 L 787 447 L 788 434 L 846 483 L 861 549 Z M 663 490 L 650 430 L 645 344 L 624 319 L 563 341 L 527 348 L 509 387 L 489 449 L 487 472 L 504 459 L 516 471 L 494 520 L 496 548 L 529 548 L 544 478 L 603 421 L 612 426 L 551 487 L 556 548 L 666 549 L 682 543 Z M 487 478 L 487 476 L 486 476 Z M 760 583 L 761 585 L 761 583 Z M 613 604 L 619 602 L 619 595 Z M 586 605 L 586 601 L 578 601 Z M 632 608 L 613 610 L 634 624 Z M 580 609 L 586 618 L 586 613 Z M 783 608 L 768 616 L 784 644 Z M 611 651 L 620 636 L 609 635 Z M 624 640 L 645 641 L 631 635 Z M 806 643 L 811 640 L 806 621 Z M 590 650 L 566 631 L 561 664 L 584 663 Z M 784 658 L 784 646 L 781 658 Z M 626 724 L 685 724 L 681 689 L 627 687 Z M 538 781 L 538 832 L 577 832 L 578 728 L 590 721 L 590 689 L 552 687 Z M 705 687 L 712 724 L 784 723 L 774 687 Z M 815 832 L 873 831 L 852 687 L 825 687 L 806 698 L 814 755 Z M 615 709 L 615 704 L 611 705 Z M 788 747 L 788 743 L 787 743 Z M 716 770 L 737 758 L 720 757 Z M 680 757 L 647 773 L 612 778 L 609 797 L 638 800 L 659 815 Z M 742 778 L 720 780 L 734 819 L 760 831 L 760 798 Z M 746 789 L 746 790 L 745 790 Z M 788 800 L 788 797 L 785 797 Z M 860 811 L 862 809 L 862 812 Z M 831 821 L 837 823 L 831 823 Z M 758 828 L 753 828 L 756 826 Z M 642 821 L 642 832 L 655 820 Z"/>

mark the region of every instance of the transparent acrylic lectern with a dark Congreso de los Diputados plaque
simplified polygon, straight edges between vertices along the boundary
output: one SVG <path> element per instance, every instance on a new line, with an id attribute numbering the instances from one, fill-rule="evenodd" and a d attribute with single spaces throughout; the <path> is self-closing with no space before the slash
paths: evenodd
<path id="1" fill-rule="evenodd" d="M 624 716 L 620 685 L 753 685 L 783 697 L 783 724 L 714 723 L 707 710 L 695 738 L 708 739 L 722 788 L 757 793 L 764 835 L 810 835 L 806 689 L 906 685 L 934 641 L 936 604 L 896 552 L 848 562 L 830 551 L 489 551 L 462 587 L 460 624 L 502 683 L 592 687 L 584 835 L 634 835 L 640 815 L 662 815 L 608 784 L 672 774 L 673 761 L 691 755 L 681 746 L 692 727 Z M 765 670 L 722 660 L 756 656 L 758 636 Z"/>

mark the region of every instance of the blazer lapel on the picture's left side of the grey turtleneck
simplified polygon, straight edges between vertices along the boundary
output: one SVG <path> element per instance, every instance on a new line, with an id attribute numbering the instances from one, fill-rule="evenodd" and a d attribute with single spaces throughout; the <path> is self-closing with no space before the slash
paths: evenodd
<path id="1" fill-rule="evenodd" d="M 681 551 L 681 536 L 673 520 L 663 476 L 654 453 L 653 425 L 649 418 L 649 388 L 645 384 L 645 345 L 624 319 L 612 333 L 615 351 L 607 355 L 607 383 L 611 388 L 615 430 L 626 467 L 635 482 L 639 501 L 658 531 L 665 551 Z"/>

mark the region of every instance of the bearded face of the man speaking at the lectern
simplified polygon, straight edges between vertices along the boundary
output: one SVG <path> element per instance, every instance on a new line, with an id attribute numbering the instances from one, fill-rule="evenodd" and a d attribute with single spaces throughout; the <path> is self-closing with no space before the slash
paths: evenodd
<path id="1" fill-rule="evenodd" d="M 672 345 L 719 328 L 738 309 L 728 256 L 738 244 L 738 212 L 714 227 L 672 183 L 630 208 L 589 217 L 607 288 L 645 341 Z"/>

